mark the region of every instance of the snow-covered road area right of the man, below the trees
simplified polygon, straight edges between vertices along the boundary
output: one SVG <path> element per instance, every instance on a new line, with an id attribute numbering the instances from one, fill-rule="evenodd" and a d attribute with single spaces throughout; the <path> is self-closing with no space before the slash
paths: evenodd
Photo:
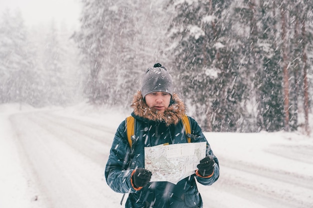
<path id="1" fill-rule="evenodd" d="M 211 187 L 213 194 L 209 195 L 214 199 L 213 208 L 313 207 L 311 139 L 303 142 L 296 139 L 296 134 L 288 138 L 288 134 L 286 137 L 281 133 L 234 135 L 233 138 L 223 137 L 223 145 L 223 141 L 218 141 L 217 146 L 215 140 L 211 142 L 214 151 L 222 153 L 218 157 L 221 177 L 216 186 Z"/>

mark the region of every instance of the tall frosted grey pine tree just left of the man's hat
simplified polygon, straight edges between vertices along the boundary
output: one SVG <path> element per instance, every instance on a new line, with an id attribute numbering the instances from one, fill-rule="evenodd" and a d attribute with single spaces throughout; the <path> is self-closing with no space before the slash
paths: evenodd
<path id="1" fill-rule="evenodd" d="M 74 35 L 83 54 L 86 68 L 90 69 L 86 94 L 92 103 L 109 103 L 115 100 L 116 72 L 120 59 L 133 37 L 133 25 L 126 18 L 131 10 L 127 4 L 110 0 L 84 0 L 81 28 Z M 128 25 L 129 24 L 129 25 Z M 121 25 L 128 25 L 123 29 Z M 125 38 L 125 39 L 124 39 Z M 129 53 L 130 54 L 130 53 Z M 125 61 L 132 57 L 123 57 Z"/>

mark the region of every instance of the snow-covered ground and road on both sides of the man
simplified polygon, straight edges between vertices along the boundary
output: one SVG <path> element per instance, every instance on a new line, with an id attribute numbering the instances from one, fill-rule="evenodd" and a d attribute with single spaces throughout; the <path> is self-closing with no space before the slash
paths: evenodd
<path id="1" fill-rule="evenodd" d="M 121 208 L 103 172 L 129 112 L 0 105 L 0 208 Z M 199 185 L 204 208 L 313 208 L 313 137 L 205 133 L 220 178 Z"/>

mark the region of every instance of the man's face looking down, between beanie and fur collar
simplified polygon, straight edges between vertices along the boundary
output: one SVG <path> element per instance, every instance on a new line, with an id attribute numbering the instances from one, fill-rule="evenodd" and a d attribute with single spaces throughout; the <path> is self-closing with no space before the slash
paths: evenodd
<path id="1" fill-rule="evenodd" d="M 151 92 L 144 99 L 149 108 L 164 113 L 165 109 L 169 106 L 170 94 L 167 92 Z"/>

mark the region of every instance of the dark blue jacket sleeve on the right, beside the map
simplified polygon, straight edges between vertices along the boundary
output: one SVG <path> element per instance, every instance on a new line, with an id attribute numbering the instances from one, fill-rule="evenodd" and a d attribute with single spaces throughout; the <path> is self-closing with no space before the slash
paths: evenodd
<path id="1" fill-rule="evenodd" d="M 212 156 L 213 160 L 215 161 L 214 164 L 214 171 L 212 173 L 212 175 L 208 176 L 208 177 L 202 177 L 199 174 L 195 174 L 196 180 L 205 186 L 210 186 L 212 185 L 215 181 L 217 181 L 218 177 L 219 177 L 219 164 L 218 164 L 218 160 L 215 157 L 215 155 L 213 154 L 212 149 L 210 148 L 210 145 L 208 144 L 205 136 L 202 133 L 201 128 L 199 127 L 199 125 L 197 124 L 197 122 L 189 117 L 190 119 L 190 124 L 191 124 L 191 133 L 193 135 L 197 135 L 197 138 L 195 139 L 195 141 L 193 142 L 206 142 L 206 156 L 210 155 Z"/>

